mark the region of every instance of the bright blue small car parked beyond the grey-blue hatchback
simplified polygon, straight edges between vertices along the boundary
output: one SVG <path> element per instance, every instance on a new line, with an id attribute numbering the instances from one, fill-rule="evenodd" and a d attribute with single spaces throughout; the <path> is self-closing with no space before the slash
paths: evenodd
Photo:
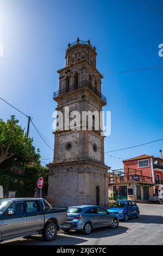
<path id="1" fill-rule="evenodd" d="M 133 200 L 117 200 L 108 209 L 110 213 L 114 213 L 118 216 L 119 220 L 128 221 L 128 218 L 139 218 L 139 207 Z"/>

